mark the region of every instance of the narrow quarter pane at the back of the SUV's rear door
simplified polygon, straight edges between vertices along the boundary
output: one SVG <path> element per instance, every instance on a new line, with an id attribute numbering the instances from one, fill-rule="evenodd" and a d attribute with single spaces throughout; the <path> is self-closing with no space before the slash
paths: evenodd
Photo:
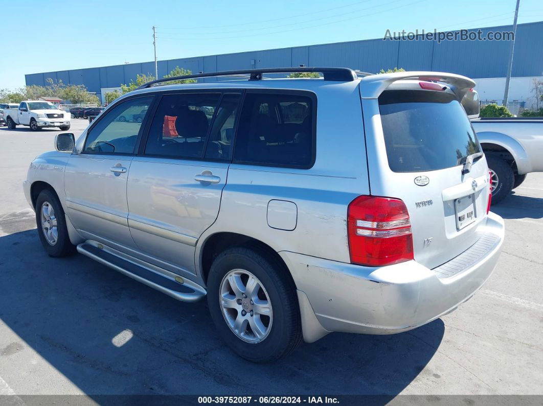
<path id="1" fill-rule="evenodd" d="M 232 141 L 240 98 L 240 94 L 225 94 L 220 101 L 206 147 L 206 158 L 230 160 L 232 157 Z"/>

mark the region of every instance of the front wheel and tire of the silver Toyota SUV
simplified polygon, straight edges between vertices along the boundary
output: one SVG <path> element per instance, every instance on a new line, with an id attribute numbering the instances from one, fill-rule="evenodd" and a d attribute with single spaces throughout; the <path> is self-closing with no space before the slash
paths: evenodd
<path id="1" fill-rule="evenodd" d="M 42 190 L 36 199 L 35 211 L 37 233 L 47 254 L 53 257 L 74 254 L 75 246 L 70 242 L 59 198 L 48 189 Z"/>

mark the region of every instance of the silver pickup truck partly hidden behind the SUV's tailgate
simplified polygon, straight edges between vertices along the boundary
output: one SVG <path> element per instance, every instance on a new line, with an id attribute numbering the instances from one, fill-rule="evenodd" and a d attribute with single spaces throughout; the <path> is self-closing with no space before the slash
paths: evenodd
<path id="1" fill-rule="evenodd" d="M 492 203 L 520 186 L 527 173 L 543 172 L 543 118 L 471 120 L 492 176 Z"/>

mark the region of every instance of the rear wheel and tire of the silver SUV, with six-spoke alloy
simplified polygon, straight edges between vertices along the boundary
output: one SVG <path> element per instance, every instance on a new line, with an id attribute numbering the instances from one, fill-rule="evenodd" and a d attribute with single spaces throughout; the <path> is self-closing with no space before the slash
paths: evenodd
<path id="1" fill-rule="evenodd" d="M 231 280 L 241 282 L 235 295 Z M 256 280 L 256 286 L 260 286 L 252 294 L 247 289 L 249 280 Z M 225 250 L 211 265 L 207 288 L 213 323 L 238 356 L 251 362 L 271 362 L 285 357 L 300 343 L 300 310 L 294 282 L 288 269 L 269 255 L 243 247 Z M 239 324 L 238 319 L 242 320 Z"/>

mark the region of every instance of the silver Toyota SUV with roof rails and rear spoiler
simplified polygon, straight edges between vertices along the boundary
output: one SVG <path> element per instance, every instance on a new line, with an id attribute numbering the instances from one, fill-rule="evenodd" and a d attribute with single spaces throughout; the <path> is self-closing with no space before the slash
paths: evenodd
<path id="1" fill-rule="evenodd" d="M 321 77 L 263 78 L 287 72 Z M 213 81 L 155 86 L 189 78 Z M 399 333 L 468 300 L 498 260 L 503 221 L 460 104 L 474 85 L 306 67 L 158 80 L 77 142 L 59 134 L 24 191 L 49 255 L 77 249 L 174 299 L 207 295 L 243 358 Z"/>

